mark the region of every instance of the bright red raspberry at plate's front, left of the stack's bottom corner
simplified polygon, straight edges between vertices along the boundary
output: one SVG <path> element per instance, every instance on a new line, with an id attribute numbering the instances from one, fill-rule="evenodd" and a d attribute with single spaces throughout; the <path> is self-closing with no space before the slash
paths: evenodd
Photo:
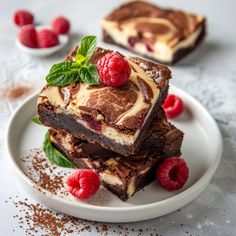
<path id="1" fill-rule="evenodd" d="M 76 170 L 67 179 L 68 191 L 78 199 L 89 198 L 100 187 L 99 175 L 92 170 Z"/>

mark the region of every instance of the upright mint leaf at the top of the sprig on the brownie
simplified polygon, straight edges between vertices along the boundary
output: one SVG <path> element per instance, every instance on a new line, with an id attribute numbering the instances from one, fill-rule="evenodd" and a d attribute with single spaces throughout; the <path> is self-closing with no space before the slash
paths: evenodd
<path id="1" fill-rule="evenodd" d="M 85 36 L 82 38 L 80 42 L 80 46 L 76 53 L 76 60 L 79 60 L 79 56 L 84 56 L 87 61 L 93 55 L 94 50 L 97 45 L 97 37 L 96 36 Z"/>

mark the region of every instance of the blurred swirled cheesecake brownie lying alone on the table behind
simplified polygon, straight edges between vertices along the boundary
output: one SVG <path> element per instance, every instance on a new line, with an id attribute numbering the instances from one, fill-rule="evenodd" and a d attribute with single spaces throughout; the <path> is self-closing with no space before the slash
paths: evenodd
<path id="1" fill-rule="evenodd" d="M 132 1 L 103 19 L 103 40 L 173 64 L 202 41 L 205 22 L 201 15 Z"/>

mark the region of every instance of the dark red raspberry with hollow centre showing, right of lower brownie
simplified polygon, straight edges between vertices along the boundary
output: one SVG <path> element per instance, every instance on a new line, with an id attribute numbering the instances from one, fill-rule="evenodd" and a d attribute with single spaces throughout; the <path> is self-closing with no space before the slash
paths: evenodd
<path id="1" fill-rule="evenodd" d="M 179 157 L 170 157 L 158 167 L 156 179 L 167 190 L 176 190 L 184 186 L 189 169 L 186 162 Z"/>

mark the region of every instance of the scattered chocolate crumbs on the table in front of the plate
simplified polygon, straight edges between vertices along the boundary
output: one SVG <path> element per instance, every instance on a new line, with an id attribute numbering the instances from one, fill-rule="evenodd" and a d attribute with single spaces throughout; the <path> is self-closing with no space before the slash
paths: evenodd
<path id="1" fill-rule="evenodd" d="M 130 224 L 109 224 L 83 220 L 51 210 L 39 203 L 32 203 L 21 196 L 9 197 L 7 204 L 13 204 L 16 213 L 13 219 L 25 235 L 66 236 L 66 235 L 144 235 L 145 230 L 133 228 Z M 12 229 L 16 231 L 16 229 Z M 150 228 L 150 235 L 158 235 L 156 229 Z M 146 234 L 145 234 L 146 235 Z"/>

